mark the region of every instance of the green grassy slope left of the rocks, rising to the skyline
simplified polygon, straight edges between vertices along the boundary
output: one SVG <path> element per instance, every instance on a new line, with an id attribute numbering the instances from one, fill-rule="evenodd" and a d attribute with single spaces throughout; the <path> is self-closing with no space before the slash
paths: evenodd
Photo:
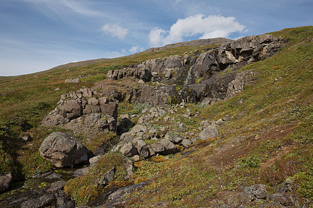
<path id="1" fill-rule="evenodd" d="M 11 171 L 17 178 L 21 178 L 47 171 L 51 167 L 51 164 L 41 159 L 38 148 L 42 140 L 54 130 L 41 128 L 39 125 L 43 116 L 56 107 L 61 94 L 77 91 L 83 86 L 91 87 L 93 83 L 106 78 L 106 73 L 111 69 L 152 58 L 184 55 L 185 52 L 195 53 L 214 46 L 182 46 L 110 59 L 83 67 L 0 77 L 0 173 Z M 67 78 L 79 76 L 84 76 L 80 78 L 81 83 L 65 83 Z M 60 90 L 55 90 L 56 88 Z M 31 145 L 26 145 L 20 139 L 20 135 L 25 132 L 33 137 Z"/>

